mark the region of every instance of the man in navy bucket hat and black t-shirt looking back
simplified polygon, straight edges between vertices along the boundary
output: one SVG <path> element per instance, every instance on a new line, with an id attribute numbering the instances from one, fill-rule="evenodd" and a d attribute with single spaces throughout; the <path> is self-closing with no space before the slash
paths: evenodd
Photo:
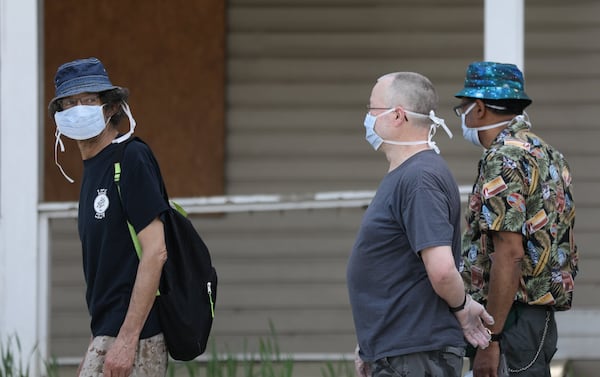
<path id="1" fill-rule="evenodd" d="M 92 339 L 78 376 L 165 376 L 167 349 L 155 296 L 167 253 L 159 219 L 167 210 L 152 151 L 137 140 L 120 160 L 121 198 L 114 182 L 119 143 L 130 138 L 135 120 L 128 90 L 111 83 L 100 60 L 61 65 L 48 110 L 56 123 L 55 160 L 61 136 L 77 141 L 83 159 L 78 230 L 82 243 L 86 301 Z M 118 125 L 126 116 L 129 131 Z M 143 249 L 138 258 L 127 220 Z"/>

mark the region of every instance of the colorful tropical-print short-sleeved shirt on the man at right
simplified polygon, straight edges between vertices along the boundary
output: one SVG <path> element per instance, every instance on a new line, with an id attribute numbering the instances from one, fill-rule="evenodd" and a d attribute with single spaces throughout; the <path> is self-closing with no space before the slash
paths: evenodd
<path id="1" fill-rule="evenodd" d="M 466 219 L 461 273 L 475 300 L 487 301 L 494 252 L 487 232 L 517 232 L 525 256 L 515 300 L 571 307 L 578 271 L 571 172 L 564 156 L 531 132 L 528 122 L 513 120 L 483 153 Z"/>

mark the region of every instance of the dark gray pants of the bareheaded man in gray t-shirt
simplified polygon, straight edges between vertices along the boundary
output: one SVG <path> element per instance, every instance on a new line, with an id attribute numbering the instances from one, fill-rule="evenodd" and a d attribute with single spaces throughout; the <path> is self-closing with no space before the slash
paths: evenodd
<path id="1" fill-rule="evenodd" d="M 370 363 L 372 377 L 460 377 L 465 350 L 446 347 L 441 351 L 385 357 Z"/>

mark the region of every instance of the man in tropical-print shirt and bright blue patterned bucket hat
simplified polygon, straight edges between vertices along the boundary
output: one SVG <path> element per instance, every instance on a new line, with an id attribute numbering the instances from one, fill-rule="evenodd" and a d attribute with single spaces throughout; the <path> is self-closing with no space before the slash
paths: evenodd
<path id="1" fill-rule="evenodd" d="M 569 165 L 532 132 L 517 66 L 471 63 L 455 96 L 464 138 L 483 148 L 461 271 L 495 319 L 490 346 L 471 354 L 473 375 L 550 377 L 554 312 L 571 308 L 578 271 Z"/>

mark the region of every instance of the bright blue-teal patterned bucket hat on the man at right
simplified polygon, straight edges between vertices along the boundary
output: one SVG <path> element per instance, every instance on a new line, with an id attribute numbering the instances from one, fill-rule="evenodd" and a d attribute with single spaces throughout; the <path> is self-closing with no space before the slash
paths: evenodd
<path id="1" fill-rule="evenodd" d="M 523 73 L 514 64 L 473 62 L 467 68 L 465 87 L 454 95 L 491 100 L 520 100 L 528 104 Z"/>

